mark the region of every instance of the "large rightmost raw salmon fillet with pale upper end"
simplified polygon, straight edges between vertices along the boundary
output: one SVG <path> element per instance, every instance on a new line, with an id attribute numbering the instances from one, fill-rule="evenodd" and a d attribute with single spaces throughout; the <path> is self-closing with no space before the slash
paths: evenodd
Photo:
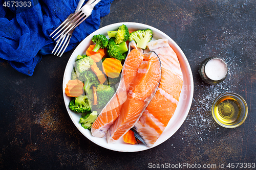
<path id="1" fill-rule="evenodd" d="M 179 102 L 183 76 L 177 55 L 167 39 L 159 39 L 147 44 L 161 61 L 162 78 L 154 98 L 135 124 L 133 131 L 147 146 L 152 147 L 172 118 Z"/>

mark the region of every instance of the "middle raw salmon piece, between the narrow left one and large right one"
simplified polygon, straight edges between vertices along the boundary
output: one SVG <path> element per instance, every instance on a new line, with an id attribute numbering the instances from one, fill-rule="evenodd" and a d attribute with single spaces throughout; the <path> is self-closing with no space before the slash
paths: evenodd
<path id="1" fill-rule="evenodd" d="M 127 87 L 127 99 L 120 115 L 109 128 L 106 138 L 114 143 L 129 131 L 139 120 L 147 105 L 154 97 L 161 80 L 161 62 L 155 52 L 143 55 L 137 70 L 136 79 Z"/>

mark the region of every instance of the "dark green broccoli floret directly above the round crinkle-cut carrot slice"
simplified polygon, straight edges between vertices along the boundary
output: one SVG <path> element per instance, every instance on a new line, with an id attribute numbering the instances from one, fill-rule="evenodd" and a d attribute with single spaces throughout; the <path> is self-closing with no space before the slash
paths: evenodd
<path id="1" fill-rule="evenodd" d="M 122 42 L 120 44 L 116 44 L 115 43 L 115 38 L 110 38 L 109 39 L 109 44 L 107 46 L 107 54 L 109 57 L 113 57 L 117 60 L 125 60 L 126 58 L 126 53 L 128 51 L 128 47 L 127 47 L 127 44 L 126 42 Z"/>

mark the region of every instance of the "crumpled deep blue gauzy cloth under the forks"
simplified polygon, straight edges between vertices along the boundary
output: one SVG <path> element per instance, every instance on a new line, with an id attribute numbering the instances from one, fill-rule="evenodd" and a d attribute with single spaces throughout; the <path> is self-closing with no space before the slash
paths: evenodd
<path id="1" fill-rule="evenodd" d="M 110 13 L 113 1 L 101 0 L 94 7 L 92 14 L 74 30 L 65 52 L 99 28 L 100 17 Z M 79 0 L 0 2 L 0 61 L 7 60 L 19 72 L 32 76 L 42 55 L 51 54 L 55 46 L 49 35 L 74 13 Z"/>

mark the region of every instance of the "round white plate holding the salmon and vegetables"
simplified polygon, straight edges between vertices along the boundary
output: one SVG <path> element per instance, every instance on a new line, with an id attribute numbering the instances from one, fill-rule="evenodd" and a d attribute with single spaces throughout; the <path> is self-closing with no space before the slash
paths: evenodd
<path id="1" fill-rule="evenodd" d="M 170 119 L 165 130 L 160 135 L 160 137 L 157 139 L 157 141 L 155 142 L 153 147 L 156 147 L 157 145 L 159 145 L 162 142 L 164 142 L 165 140 L 167 140 L 181 127 L 181 125 L 183 124 L 183 122 L 189 112 L 189 109 L 190 109 L 190 106 L 192 103 L 192 99 L 193 99 L 194 83 L 193 83 L 193 76 L 192 76 L 191 68 L 190 68 L 189 63 L 188 63 L 184 53 L 182 52 L 181 48 L 174 42 L 173 39 L 171 39 L 169 36 L 167 36 L 166 34 L 161 32 L 160 30 L 158 30 L 154 27 L 151 27 L 151 26 L 144 25 L 142 23 L 135 23 L 135 22 L 114 23 L 112 25 L 105 26 L 101 29 L 98 29 L 97 31 L 95 31 L 94 33 L 92 33 L 91 35 L 86 37 L 76 47 L 76 49 L 72 53 L 72 55 L 67 63 L 65 73 L 63 76 L 63 85 L 62 85 L 63 98 L 65 101 L 65 105 L 68 110 L 68 113 L 69 113 L 70 118 L 72 119 L 73 123 L 75 124 L 77 129 L 84 136 L 86 136 L 89 140 L 91 140 L 92 142 L 94 142 L 106 149 L 119 151 L 119 152 L 137 152 L 137 151 L 147 150 L 150 148 L 146 147 L 142 143 L 141 144 L 127 144 L 127 143 L 123 142 L 122 139 L 120 139 L 119 141 L 117 141 L 113 144 L 108 144 L 105 137 L 103 137 L 103 138 L 94 137 L 94 136 L 92 136 L 90 130 L 82 128 L 81 125 L 79 124 L 79 118 L 80 118 L 81 114 L 72 112 L 69 109 L 69 102 L 71 101 L 71 98 L 65 94 L 65 88 L 66 88 L 68 81 L 71 79 L 71 71 L 73 70 L 73 66 L 74 66 L 76 57 L 77 57 L 77 55 L 86 54 L 86 49 L 89 47 L 90 44 L 93 44 L 93 42 L 91 41 L 93 35 L 103 34 L 108 38 L 107 31 L 117 30 L 118 27 L 121 26 L 122 24 L 126 25 L 130 31 L 143 30 L 143 29 L 147 29 L 147 28 L 151 29 L 153 31 L 153 39 L 152 40 L 157 40 L 157 39 L 161 39 L 161 38 L 168 39 L 169 45 L 173 48 L 173 50 L 177 54 L 179 62 L 180 62 L 180 66 L 181 66 L 181 70 L 182 70 L 182 74 L 183 74 L 183 87 L 182 87 L 182 91 L 180 94 L 179 104 L 176 108 L 176 111 L 175 111 L 173 117 Z M 153 147 L 151 147 L 151 148 L 153 148 Z"/>

